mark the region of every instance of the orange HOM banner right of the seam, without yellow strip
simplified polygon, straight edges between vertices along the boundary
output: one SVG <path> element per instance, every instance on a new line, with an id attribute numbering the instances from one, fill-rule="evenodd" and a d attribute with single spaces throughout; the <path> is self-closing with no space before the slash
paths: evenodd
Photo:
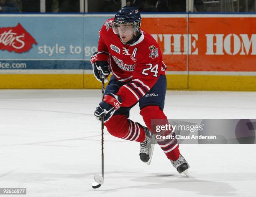
<path id="1" fill-rule="evenodd" d="M 189 33 L 196 35 L 189 71 L 256 71 L 256 16 L 190 15 Z"/>

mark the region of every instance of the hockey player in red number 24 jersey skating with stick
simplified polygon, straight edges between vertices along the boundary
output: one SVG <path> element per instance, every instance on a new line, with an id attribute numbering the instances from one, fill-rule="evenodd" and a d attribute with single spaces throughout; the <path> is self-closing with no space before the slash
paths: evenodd
<path id="1" fill-rule="evenodd" d="M 140 142 L 140 159 L 150 164 L 155 143 L 151 120 L 168 123 L 163 112 L 166 66 L 158 43 L 140 26 L 138 8 L 127 6 L 102 26 L 98 52 L 91 58 L 93 72 L 98 81 L 104 76 L 108 82 L 110 71 L 113 75 L 94 114 L 97 119 L 104 116 L 104 125 L 113 136 Z M 128 119 L 137 102 L 147 127 Z M 156 141 L 177 171 L 187 172 L 189 164 L 179 153 L 174 132 L 172 136 Z"/>

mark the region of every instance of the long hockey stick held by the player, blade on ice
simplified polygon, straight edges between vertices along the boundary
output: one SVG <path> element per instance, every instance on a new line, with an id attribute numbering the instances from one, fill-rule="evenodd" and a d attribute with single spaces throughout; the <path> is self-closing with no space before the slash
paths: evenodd
<path id="1" fill-rule="evenodd" d="M 105 77 L 102 75 L 101 81 L 101 100 L 103 101 L 104 97 L 104 80 Z M 92 183 L 92 188 L 96 189 L 103 184 L 104 180 L 104 152 L 103 152 L 103 145 L 104 145 L 104 115 L 101 117 L 101 176 L 99 174 L 94 174 L 95 182 Z"/>

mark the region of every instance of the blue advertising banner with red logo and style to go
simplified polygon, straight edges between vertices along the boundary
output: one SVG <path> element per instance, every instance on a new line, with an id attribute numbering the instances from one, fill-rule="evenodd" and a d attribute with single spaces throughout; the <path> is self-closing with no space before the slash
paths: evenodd
<path id="1" fill-rule="evenodd" d="M 90 69 L 102 21 L 84 15 L 1 15 L 0 69 Z M 7 64 L 7 65 L 6 65 Z M 9 66 L 8 66 L 9 64 Z M 26 66 L 24 66 L 26 65 Z M 20 69 L 19 68 L 19 69 Z"/>

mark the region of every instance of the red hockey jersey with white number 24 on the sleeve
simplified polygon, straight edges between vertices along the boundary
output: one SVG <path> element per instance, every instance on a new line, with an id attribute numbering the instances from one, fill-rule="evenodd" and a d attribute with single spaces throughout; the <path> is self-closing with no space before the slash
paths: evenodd
<path id="1" fill-rule="evenodd" d="M 135 104 L 165 75 L 166 66 L 156 40 L 141 30 L 141 37 L 133 44 L 123 44 L 112 29 L 113 19 L 107 20 L 100 30 L 99 52 L 110 55 L 110 70 L 123 85 L 117 95 L 122 98 L 123 107 Z"/>

